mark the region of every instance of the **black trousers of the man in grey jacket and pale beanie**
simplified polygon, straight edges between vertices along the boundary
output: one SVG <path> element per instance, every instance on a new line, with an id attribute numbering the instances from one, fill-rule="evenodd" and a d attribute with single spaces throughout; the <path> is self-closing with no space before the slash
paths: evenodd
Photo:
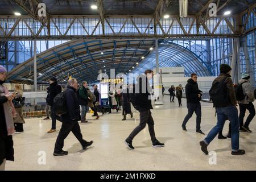
<path id="1" fill-rule="evenodd" d="M 243 118 L 245 117 L 246 109 L 249 110 L 250 114 L 248 115 L 244 125 L 245 127 L 248 127 L 250 125 L 250 122 L 253 120 L 255 116 L 255 108 L 254 108 L 253 102 L 249 102 L 249 104 L 239 104 L 239 109 L 240 109 L 240 114 L 239 114 L 240 127 L 243 126 Z"/>

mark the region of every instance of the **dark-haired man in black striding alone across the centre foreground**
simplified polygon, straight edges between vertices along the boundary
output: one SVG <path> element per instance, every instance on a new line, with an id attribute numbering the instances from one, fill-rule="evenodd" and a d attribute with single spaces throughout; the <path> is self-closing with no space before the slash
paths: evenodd
<path id="1" fill-rule="evenodd" d="M 125 140 L 125 144 L 131 150 L 134 149 L 132 145 L 133 138 L 148 125 L 148 131 L 150 133 L 152 147 L 163 147 L 164 143 L 160 143 L 155 137 L 155 130 L 154 130 L 154 120 L 151 115 L 150 109 L 153 109 L 151 105 L 151 99 L 148 97 L 150 96 L 150 86 L 148 80 L 152 79 L 154 72 L 150 69 L 145 71 L 145 75 L 140 75 L 137 78 L 138 87 L 135 89 L 135 94 L 137 95 L 137 106 L 139 110 L 139 126 L 137 126 L 129 135 L 129 137 Z M 136 92 L 136 90 L 138 91 Z"/>

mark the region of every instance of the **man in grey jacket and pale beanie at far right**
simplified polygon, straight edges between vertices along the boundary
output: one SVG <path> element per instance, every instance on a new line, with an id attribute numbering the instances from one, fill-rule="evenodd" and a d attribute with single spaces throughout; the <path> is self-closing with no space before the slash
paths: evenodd
<path id="1" fill-rule="evenodd" d="M 255 108 L 253 105 L 253 101 L 255 100 L 255 98 L 253 94 L 253 88 L 251 88 L 250 84 L 250 76 L 247 73 L 242 73 L 242 79 L 239 80 L 238 84 L 242 84 L 243 95 L 245 95 L 245 98 L 242 101 L 238 101 L 240 108 L 240 131 L 251 132 L 251 130 L 249 129 L 249 124 L 255 116 Z M 246 122 L 243 125 L 243 118 L 245 117 L 246 109 L 249 110 L 250 114 L 248 115 Z"/>

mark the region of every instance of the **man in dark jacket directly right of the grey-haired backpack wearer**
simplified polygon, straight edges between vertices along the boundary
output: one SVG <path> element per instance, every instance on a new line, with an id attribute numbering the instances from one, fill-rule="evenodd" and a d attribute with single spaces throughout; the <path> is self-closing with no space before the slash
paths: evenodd
<path id="1" fill-rule="evenodd" d="M 83 81 L 81 88 L 78 90 L 79 104 L 81 106 L 81 123 L 88 122 L 86 121 L 86 113 L 89 111 L 87 86 L 87 82 Z"/>

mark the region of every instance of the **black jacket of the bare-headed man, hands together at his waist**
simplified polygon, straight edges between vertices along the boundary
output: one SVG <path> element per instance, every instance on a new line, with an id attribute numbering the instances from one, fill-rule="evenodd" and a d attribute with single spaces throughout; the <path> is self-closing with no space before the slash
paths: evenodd
<path id="1" fill-rule="evenodd" d="M 201 94 L 202 96 L 203 92 L 199 90 L 197 82 L 193 81 L 192 78 L 188 79 L 188 83 L 185 86 L 185 92 L 188 104 L 200 103 L 201 97 L 198 97 L 198 94 Z"/>

